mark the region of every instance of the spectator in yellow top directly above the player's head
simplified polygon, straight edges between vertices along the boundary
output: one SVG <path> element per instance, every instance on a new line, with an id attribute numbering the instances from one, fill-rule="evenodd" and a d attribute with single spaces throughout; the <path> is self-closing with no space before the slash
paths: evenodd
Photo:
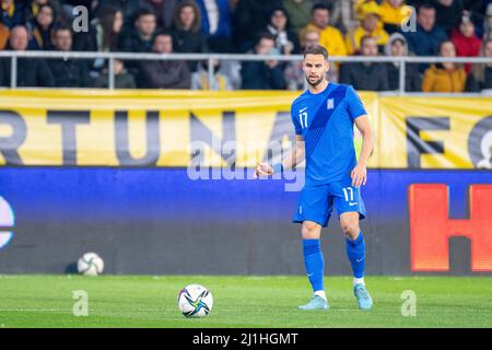
<path id="1" fill-rule="evenodd" d="M 307 30 L 319 32 L 319 44 L 324 46 L 330 56 L 347 56 L 347 47 L 339 30 L 328 25 L 330 12 L 325 4 L 316 4 L 312 11 L 312 22 L 306 26 Z"/>

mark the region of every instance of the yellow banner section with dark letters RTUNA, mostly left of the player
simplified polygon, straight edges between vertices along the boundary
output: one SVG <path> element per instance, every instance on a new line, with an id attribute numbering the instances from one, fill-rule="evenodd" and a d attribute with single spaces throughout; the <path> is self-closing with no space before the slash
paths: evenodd
<path id="1" fill-rule="evenodd" d="M 291 148 L 297 95 L 3 91 L 0 165 L 253 166 Z M 362 98 L 376 110 L 375 94 Z"/>

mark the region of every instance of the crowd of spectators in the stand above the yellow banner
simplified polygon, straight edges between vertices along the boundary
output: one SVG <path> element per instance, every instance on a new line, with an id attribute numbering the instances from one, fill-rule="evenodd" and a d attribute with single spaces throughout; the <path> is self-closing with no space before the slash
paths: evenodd
<path id="1" fill-rule="evenodd" d="M 0 50 L 297 55 L 314 44 L 335 56 L 492 57 L 492 0 L 0 0 Z M 75 7 L 89 10 L 74 30 Z M 406 19 L 417 9 L 417 25 Z M 74 14 L 75 13 L 75 14 Z M 402 25 L 403 24 L 403 25 Z M 410 28 L 410 30 L 409 30 Z M 118 89 L 300 90 L 301 63 L 115 60 Z M 104 59 L 17 60 L 19 86 L 107 88 Z M 333 63 L 331 81 L 395 91 L 399 65 Z M 11 60 L 0 59 L 0 86 Z M 407 65 L 406 91 L 492 89 L 491 65 Z"/>

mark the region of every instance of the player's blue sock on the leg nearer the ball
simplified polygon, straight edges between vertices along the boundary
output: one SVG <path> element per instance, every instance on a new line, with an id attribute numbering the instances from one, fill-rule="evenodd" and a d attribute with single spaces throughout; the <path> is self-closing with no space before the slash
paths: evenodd
<path id="1" fill-rule="evenodd" d="M 303 240 L 304 265 L 315 295 L 326 300 L 324 288 L 325 260 L 319 240 Z"/>

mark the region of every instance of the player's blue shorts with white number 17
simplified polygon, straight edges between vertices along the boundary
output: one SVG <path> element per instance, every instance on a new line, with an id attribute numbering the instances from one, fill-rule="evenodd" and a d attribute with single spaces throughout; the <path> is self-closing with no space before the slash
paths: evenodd
<path id="1" fill-rule="evenodd" d="M 365 206 L 361 188 L 352 186 L 352 179 L 327 185 L 304 187 L 292 221 L 314 221 L 326 228 L 335 208 L 340 217 L 343 212 L 359 212 L 359 218 L 365 218 Z"/>

